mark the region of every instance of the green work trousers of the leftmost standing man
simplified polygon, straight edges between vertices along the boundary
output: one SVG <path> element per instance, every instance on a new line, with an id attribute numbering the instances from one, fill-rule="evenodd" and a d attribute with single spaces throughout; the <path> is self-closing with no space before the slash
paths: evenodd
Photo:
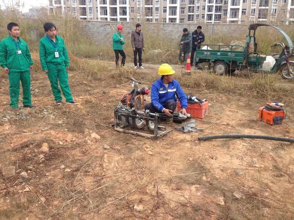
<path id="1" fill-rule="evenodd" d="M 23 104 L 29 106 L 31 102 L 31 93 L 30 93 L 30 72 L 21 71 L 21 72 L 9 72 L 9 95 L 10 95 L 10 106 L 12 108 L 18 108 L 19 96 L 20 96 L 20 81 L 22 82 L 23 87 Z"/>

